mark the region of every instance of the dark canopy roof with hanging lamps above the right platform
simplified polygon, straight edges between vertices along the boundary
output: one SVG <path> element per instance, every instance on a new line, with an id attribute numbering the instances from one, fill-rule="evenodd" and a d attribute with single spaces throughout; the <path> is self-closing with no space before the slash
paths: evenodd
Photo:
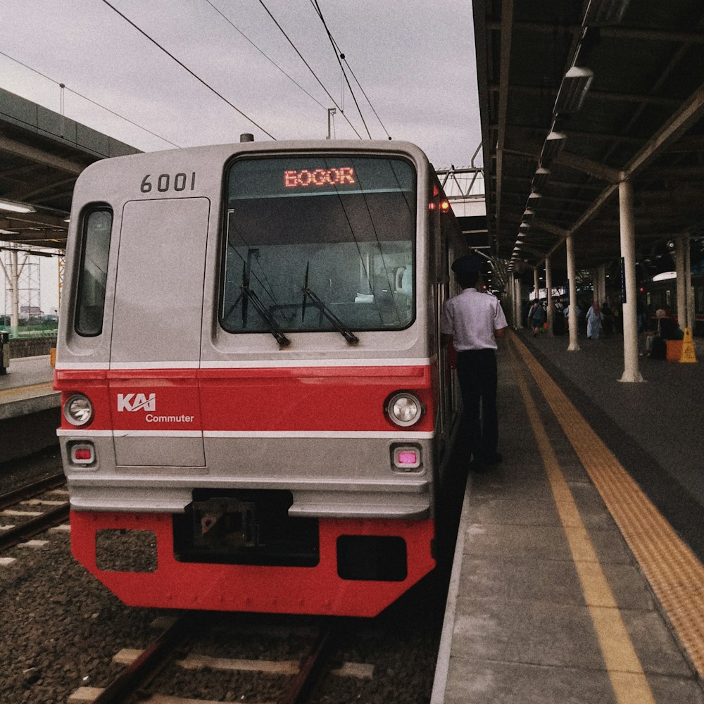
<path id="1" fill-rule="evenodd" d="M 489 237 L 514 270 L 704 234 L 704 3 L 474 0 Z M 518 249 L 516 249 L 518 248 Z"/>

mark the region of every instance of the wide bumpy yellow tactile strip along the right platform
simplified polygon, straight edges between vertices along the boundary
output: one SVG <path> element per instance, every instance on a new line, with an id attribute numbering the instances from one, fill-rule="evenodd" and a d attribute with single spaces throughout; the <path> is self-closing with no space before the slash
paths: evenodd
<path id="1" fill-rule="evenodd" d="M 514 334 L 511 341 L 704 677 L 704 565 Z"/>

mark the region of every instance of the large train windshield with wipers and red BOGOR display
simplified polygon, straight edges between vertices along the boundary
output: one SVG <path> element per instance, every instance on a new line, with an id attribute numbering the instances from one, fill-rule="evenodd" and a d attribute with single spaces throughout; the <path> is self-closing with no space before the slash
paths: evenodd
<path id="1" fill-rule="evenodd" d="M 228 332 L 413 322 L 416 175 L 401 158 L 243 158 L 227 175 Z"/>

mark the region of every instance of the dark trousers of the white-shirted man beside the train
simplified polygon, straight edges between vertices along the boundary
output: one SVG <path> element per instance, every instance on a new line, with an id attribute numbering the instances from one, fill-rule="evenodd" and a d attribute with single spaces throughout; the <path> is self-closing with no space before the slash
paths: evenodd
<path id="1" fill-rule="evenodd" d="M 496 351 L 458 353 L 457 376 L 472 454 L 479 462 L 490 462 L 496 456 L 498 444 Z"/>

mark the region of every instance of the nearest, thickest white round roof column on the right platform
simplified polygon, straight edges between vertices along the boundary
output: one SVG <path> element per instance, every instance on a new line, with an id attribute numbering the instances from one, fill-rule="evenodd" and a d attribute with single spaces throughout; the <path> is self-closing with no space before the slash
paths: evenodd
<path id="1" fill-rule="evenodd" d="M 622 382 L 642 382 L 638 370 L 638 311 L 636 300 L 636 226 L 633 186 L 625 178 L 619 183 L 621 267 L 623 272 L 623 376 Z"/>

